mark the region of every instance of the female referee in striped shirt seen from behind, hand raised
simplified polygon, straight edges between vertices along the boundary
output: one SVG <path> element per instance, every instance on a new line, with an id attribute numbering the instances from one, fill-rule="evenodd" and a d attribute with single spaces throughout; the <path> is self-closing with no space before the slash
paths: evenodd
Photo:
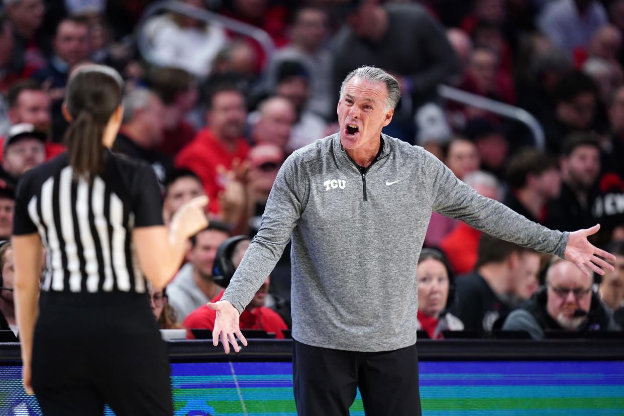
<path id="1" fill-rule="evenodd" d="M 69 79 L 68 152 L 19 181 L 12 244 L 24 387 L 44 415 L 172 415 L 169 365 L 147 281 L 162 288 L 187 238 L 207 226 L 197 198 L 162 222 L 149 165 L 110 152 L 123 81 L 83 67 Z M 43 253 L 46 269 L 37 306 Z"/>

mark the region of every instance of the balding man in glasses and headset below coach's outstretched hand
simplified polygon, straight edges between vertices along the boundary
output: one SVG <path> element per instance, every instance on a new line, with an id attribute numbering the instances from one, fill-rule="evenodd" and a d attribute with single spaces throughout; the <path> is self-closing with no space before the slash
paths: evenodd
<path id="1" fill-rule="evenodd" d="M 548 267 L 545 287 L 512 311 L 503 329 L 527 331 L 534 339 L 544 338 L 544 331 L 617 331 L 610 312 L 592 292 L 592 279 L 574 263 L 556 258 Z"/>

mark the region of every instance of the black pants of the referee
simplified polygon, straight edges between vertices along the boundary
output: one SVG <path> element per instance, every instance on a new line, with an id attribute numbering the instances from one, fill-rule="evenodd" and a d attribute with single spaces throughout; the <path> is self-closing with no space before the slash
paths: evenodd
<path id="1" fill-rule="evenodd" d="M 45 416 L 173 415 L 170 367 L 149 298 L 42 293 L 32 388 Z"/>

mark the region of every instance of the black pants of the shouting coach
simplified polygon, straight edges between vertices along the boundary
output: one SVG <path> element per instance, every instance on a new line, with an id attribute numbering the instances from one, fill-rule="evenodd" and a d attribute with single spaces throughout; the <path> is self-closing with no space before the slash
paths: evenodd
<path id="1" fill-rule="evenodd" d="M 348 415 L 356 387 L 367 416 L 421 415 L 416 344 L 354 352 L 293 341 L 293 385 L 300 416 Z"/>

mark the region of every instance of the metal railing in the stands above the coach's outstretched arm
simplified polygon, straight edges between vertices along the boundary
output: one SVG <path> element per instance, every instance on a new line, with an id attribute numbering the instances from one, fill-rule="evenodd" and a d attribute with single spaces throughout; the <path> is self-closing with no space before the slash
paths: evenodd
<path id="1" fill-rule="evenodd" d="M 524 124 L 527 128 L 529 128 L 533 136 L 535 146 L 540 150 L 544 149 L 544 129 L 542 128 L 540 122 L 527 110 L 515 107 L 514 105 L 505 104 L 504 102 L 481 97 L 480 95 L 470 94 L 470 92 L 449 87 L 449 85 L 439 85 L 437 92 L 446 100 L 470 105 L 472 107 L 476 107 L 477 109 L 485 110 L 502 117 L 507 117 L 508 119 L 513 119 Z"/>

